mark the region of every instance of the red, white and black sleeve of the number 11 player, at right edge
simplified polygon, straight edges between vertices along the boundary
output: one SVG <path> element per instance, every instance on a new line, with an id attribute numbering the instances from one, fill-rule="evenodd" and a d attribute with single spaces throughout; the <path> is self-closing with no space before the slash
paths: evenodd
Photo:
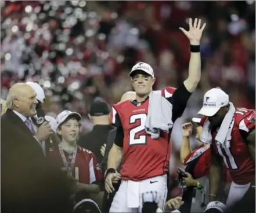
<path id="1" fill-rule="evenodd" d="M 243 119 L 239 122 L 239 131 L 244 140 L 248 134 L 255 129 L 255 111 L 248 109 L 237 109 L 236 113 L 243 113 Z M 248 111 L 246 113 L 246 111 Z M 240 116 L 240 115 L 239 115 Z"/>

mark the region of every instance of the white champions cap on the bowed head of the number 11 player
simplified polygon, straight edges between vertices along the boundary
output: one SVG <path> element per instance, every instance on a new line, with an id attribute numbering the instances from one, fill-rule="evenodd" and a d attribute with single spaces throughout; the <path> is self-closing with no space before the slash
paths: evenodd
<path id="1" fill-rule="evenodd" d="M 214 116 L 221 107 L 228 105 L 229 96 L 219 88 L 213 88 L 204 94 L 203 107 L 198 114 L 207 117 Z"/>

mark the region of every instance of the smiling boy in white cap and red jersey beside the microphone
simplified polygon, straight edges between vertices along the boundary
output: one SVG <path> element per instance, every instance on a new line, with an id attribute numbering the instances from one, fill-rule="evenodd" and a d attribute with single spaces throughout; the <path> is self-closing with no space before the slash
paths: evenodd
<path id="1" fill-rule="evenodd" d="M 80 120 L 81 115 L 77 112 L 66 110 L 57 115 L 57 134 L 61 142 L 50 152 L 50 156 L 56 157 L 60 168 L 67 171 L 68 177 L 75 178 L 76 201 L 88 198 L 89 193 L 99 193 L 98 183 L 103 178 L 95 155 L 77 145 Z"/>

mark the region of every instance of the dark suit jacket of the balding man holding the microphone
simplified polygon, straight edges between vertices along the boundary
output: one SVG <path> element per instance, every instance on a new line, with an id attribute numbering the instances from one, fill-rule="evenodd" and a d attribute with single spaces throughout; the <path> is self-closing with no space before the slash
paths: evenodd
<path id="1" fill-rule="evenodd" d="M 1 116 L 1 212 L 65 212 L 68 189 L 26 124 L 10 109 Z"/>

